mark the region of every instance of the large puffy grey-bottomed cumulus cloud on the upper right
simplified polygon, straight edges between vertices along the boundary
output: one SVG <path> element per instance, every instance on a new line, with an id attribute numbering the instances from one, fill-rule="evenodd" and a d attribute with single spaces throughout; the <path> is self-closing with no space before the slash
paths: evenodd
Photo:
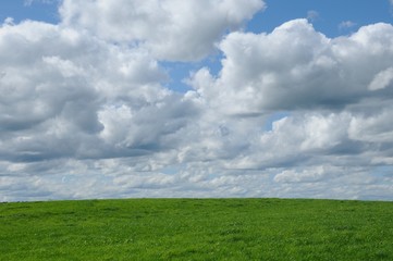
<path id="1" fill-rule="evenodd" d="M 229 114 L 341 108 L 372 96 L 368 86 L 374 77 L 390 83 L 392 39 L 389 24 L 330 39 L 306 20 L 287 22 L 271 34 L 236 32 L 220 45 L 225 58 L 219 77 L 202 69 L 191 82 Z M 379 87 L 376 82 L 370 86 Z"/>

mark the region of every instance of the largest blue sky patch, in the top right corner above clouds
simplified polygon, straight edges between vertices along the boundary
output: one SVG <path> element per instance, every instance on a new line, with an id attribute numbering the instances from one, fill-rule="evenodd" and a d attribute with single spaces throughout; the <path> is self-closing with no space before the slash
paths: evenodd
<path id="1" fill-rule="evenodd" d="M 246 30 L 270 33 L 281 24 L 308 18 L 316 30 L 328 37 L 356 32 L 360 26 L 379 22 L 392 23 L 389 0 L 266 0 L 267 9 L 257 13 Z M 343 23 L 348 26 L 343 26 Z M 351 25 L 351 26 L 349 26 Z"/>

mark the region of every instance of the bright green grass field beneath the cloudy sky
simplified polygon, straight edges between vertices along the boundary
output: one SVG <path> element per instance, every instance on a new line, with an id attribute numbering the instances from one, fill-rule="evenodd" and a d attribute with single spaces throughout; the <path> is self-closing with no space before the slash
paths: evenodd
<path id="1" fill-rule="evenodd" d="M 0 203 L 0 260 L 393 260 L 393 202 Z"/>

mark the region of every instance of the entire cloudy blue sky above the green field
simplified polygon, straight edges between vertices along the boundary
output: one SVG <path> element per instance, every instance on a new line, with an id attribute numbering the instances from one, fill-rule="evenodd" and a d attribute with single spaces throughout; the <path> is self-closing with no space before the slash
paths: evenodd
<path id="1" fill-rule="evenodd" d="M 393 200 L 393 1 L 2 0 L 0 201 Z"/>

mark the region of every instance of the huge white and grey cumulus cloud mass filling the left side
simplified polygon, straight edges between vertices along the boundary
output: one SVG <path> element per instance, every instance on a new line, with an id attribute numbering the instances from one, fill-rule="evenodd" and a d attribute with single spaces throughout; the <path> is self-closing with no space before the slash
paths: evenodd
<path id="1" fill-rule="evenodd" d="M 108 141 L 114 146 L 110 151 L 160 147 L 161 135 L 175 133 L 187 113 L 195 114 L 193 104 L 160 86 L 165 72 L 144 51 L 37 22 L 4 25 L 0 37 L 0 82 L 7 94 L 0 98 L 0 122 L 9 159 L 108 157 Z M 108 115 L 120 116 L 124 108 L 132 120 L 113 127 L 131 129 L 109 134 L 113 120 Z M 165 120 L 172 115 L 173 122 Z M 122 145 L 110 135 L 119 135 Z"/>

